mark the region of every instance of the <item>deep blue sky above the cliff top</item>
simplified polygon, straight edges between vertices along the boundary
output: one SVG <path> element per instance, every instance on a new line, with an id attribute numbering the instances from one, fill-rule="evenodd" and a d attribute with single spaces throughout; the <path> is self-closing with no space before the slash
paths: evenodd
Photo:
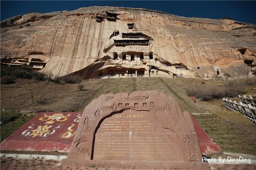
<path id="1" fill-rule="evenodd" d="M 29 12 L 75 10 L 87 6 L 123 6 L 159 10 L 186 17 L 219 19 L 230 17 L 256 24 L 256 1 L 9 1 L 1 0 L 1 21 Z"/>

